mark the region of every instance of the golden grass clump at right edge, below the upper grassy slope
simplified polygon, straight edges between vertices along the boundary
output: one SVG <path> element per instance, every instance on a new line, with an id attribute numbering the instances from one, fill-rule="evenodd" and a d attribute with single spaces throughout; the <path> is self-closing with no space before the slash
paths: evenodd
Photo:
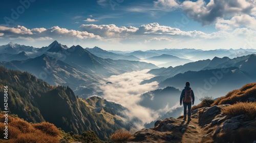
<path id="1" fill-rule="evenodd" d="M 245 114 L 246 118 L 253 119 L 256 117 L 256 103 L 240 102 L 223 108 L 222 112 L 229 116 Z"/>

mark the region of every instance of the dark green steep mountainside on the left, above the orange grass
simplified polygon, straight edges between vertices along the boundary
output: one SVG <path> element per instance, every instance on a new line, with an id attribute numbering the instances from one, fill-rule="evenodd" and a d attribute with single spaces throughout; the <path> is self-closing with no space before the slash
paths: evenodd
<path id="1" fill-rule="evenodd" d="M 17 114 L 28 122 L 47 121 L 66 132 L 92 130 L 101 139 L 107 139 L 120 128 L 131 130 L 134 127 L 127 122 L 128 117 L 121 114 L 126 110 L 121 105 L 95 97 L 83 100 L 77 98 L 69 87 L 52 86 L 31 74 L 1 67 L 2 98 L 6 85 L 10 114 Z M 0 104 L 4 105 L 3 102 L 1 100 Z"/>

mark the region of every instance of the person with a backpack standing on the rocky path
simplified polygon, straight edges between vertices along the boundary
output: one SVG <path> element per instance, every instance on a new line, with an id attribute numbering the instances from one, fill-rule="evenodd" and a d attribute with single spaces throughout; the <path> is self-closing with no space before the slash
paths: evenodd
<path id="1" fill-rule="evenodd" d="M 193 90 L 190 87 L 190 83 L 186 82 L 186 86 L 184 87 L 184 89 L 181 92 L 180 95 L 180 105 L 182 105 L 182 101 L 183 101 L 183 107 L 184 107 L 184 121 L 186 121 L 186 115 L 188 114 L 188 121 L 191 121 L 191 104 L 194 105 L 194 101 L 195 101 L 195 95 Z M 188 109 L 188 113 L 187 113 L 187 109 Z"/>

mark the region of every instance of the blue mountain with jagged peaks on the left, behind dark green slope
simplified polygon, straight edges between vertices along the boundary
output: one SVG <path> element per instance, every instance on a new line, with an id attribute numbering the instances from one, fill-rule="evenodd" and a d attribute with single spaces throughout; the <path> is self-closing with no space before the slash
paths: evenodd
<path id="1" fill-rule="evenodd" d="M 18 46 L 10 43 L 8 45 L 4 46 L 5 51 L 19 46 L 23 47 L 23 45 Z M 15 46 L 12 47 L 12 45 Z M 22 48 L 15 50 L 20 49 Z M 22 54 L 30 52 L 30 49 L 24 50 Z M 43 79 L 52 85 L 69 85 L 78 96 L 84 98 L 93 94 L 94 87 L 99 81 L 111 75 L 157 68 L 154 64 L 139 61 L 102 59 L 79 45 L 69 48 L 57 41 L 47 47 L 33 50 L 36 50 L 36 52 L 30 53 L 30 55 L 40 56 L 16 60 L 19 57 L 19 55 L 16 55 L 13 59 L 9 58 L 8 62 L 1 62 L 0 65 L 10 69 L 29 71 L 37 78 Z"/>

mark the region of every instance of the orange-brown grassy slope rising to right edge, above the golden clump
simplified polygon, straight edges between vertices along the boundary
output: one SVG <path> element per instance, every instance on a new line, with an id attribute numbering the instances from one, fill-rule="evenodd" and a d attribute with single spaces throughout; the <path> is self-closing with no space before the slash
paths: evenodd
<path id="1" fill-rule="evenodd" d="M 211 106 L 246 102 L 249 97 L 253 96 L 256 96 L 256 83 L 249 83 L 240 89 L 228 92 L 226 96 L 217 99 Z"/>

